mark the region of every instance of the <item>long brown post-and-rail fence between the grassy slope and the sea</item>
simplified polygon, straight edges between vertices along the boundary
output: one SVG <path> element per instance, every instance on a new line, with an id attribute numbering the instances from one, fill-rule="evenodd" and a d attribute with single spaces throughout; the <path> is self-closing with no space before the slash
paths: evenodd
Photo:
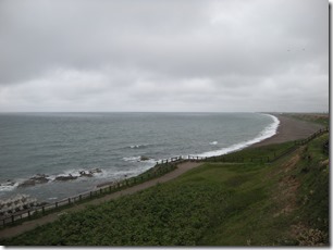
<path id="1" fill-rule="evenodd" d="M 77 204 L 81 202 L 85 202 L 95 198 L 102 197 L 104 195 L 110 195 L 116 191 L 120 191 L 124 188 L 132 187 L 135 185 L 138 185 L 140 183 L 147 182 L 149 179 L 153 179 L 156 177 L 162 176 L 177 167 L 177 164 L 184 163 L 184 162 L 260 162 L 260 163 L 272 163 L 278 161 L 279 159 L 283 158 L 286 154 L 289 154 L 294 152 L 297 148 L 300 146 L 304 146 L 308 143 L 310 140 L 323 135 L 324 133 L 328 133 L 329 128 L 320 129 L 317 133 L 312 134 L 306 139 L 297 140 L 295 141 L 294 146 L 286 149 L 285 151 L 276 154 L 274 153 L 273 158 L 264 157 L 264 158 L 235 158 L 235 157 L 227 157 L 227 155 L 220 155 L 220 157 L 194 157 L 188 155 L 185 157 L 176 157 L 176 158 L 170 158 L 170 159 L 163 159 L 160 162 L 157 162 L 157 164 L 148 170 L 147 172 L 135 176 L 131 178 L 124 178 L 119 182 L 110 183 L 109 185 L 101 186 L 97 189 L 79 193 L 78 196 L 70 197 L 66 199 L 63 199 L 61 201 L 57 201 L 54 203 L 40 205 L 37 208 L 30 208 L 28 210 L 24 211 L 17 211 L 10 215 L 2 216 L 0 218 L 0 226 L 5 227 L 9 224 L 17 223 L 22 220 L 29 220 L 29 218 L 36 218 L 38 215 L 46 215 L 50 212 L 55 212 L 61 209 L 64 209 L 66 207 Z"/>

